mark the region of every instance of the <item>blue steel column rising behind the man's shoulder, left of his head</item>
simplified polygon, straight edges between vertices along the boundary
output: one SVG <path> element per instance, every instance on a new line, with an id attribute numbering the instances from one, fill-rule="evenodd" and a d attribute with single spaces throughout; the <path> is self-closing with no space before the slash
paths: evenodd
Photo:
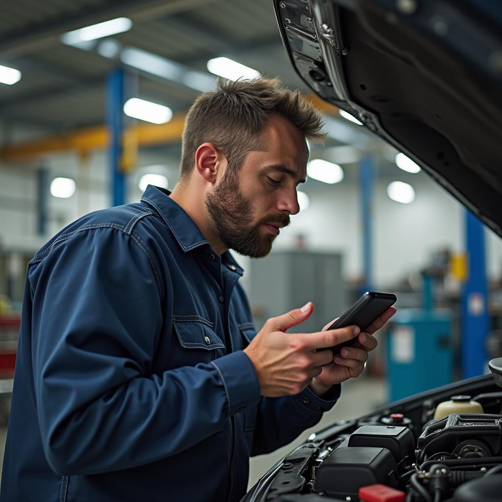
<path id="1" fill-rule="evenodd" d="M 124 129 L 124 71 L 116 68 L 108 76 L 107 114 L 109 131 L 111 205 L 126 203 L 126 176 L 121 171 L 122 137 Z"/>

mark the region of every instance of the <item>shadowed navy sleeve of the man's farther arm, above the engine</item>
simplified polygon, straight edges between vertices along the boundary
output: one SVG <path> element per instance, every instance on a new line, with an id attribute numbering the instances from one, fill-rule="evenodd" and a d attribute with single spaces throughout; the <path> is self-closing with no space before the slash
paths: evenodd
<path id="1" fill-rule="evenodd" d="M 258 405 L 251 455 L 262 455 L 293 441 L 313 427 L 340 397 L 341 386 L 333 386 L 322 397 L 308 387 L 296 396 L 262 397 Z"/>

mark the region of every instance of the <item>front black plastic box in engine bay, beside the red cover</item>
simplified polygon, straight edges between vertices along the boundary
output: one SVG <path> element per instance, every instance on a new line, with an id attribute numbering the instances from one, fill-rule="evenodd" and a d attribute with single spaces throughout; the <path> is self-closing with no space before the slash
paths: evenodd
<path id="1" fill-rule="evenodd" d="M 396 487 L 397 465 L 386 448 L 338 447 L 317 469 L 314 490 L 357 500 L 361 486 L 382 483 Z"/>

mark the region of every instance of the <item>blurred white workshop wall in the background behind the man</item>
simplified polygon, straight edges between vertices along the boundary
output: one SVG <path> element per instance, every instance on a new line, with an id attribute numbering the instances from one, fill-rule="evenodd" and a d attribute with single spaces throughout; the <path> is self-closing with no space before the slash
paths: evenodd
<path id="1" fill-rule="evenodd" d="M 177 179 L 178 159 L 142 153 L 140 165 L 164 163 L 170 187 Z M 37 236 L 37 165 L 45 165 L 54 176 L 69 176 L 77 181 L 77 193 L 70 199 L 49 196 L 48 231 Z M 131 174 L 129 199 L 138 201 L 141 170 Z M 465 212 L 453 197 L 425 174 L 406 175 L 413 180 L 416 199 L 411 204 L 394 202 L 387 196 L 387 182 L 375 186 L 373 201 L 373 271 L 375 285 L 387 285 L 403 275 L 425 266 L 431 252 L 449 247 L 463 249 Z M 352 177 L 354 178 L 354 177 Z M 326 185 L 310 180 L 302 188 L 310 195 L 310 207 L 292 217 L 291 225 L 281 231 L 276 249 L 294 245 L 298 234 L 306 237 L 309 248 L 337 250 L 344 256 L 344 276 L 355 279 L 362 274 L 362 223 L 358 186 L 344 180 Z M 0 242 L 5 248 L 36 250 L 52 234 L 86 212 L 109 205 L 107 157 L 92 154 L 82 162 L 74 154 L 51 156 L 38 164 L 0 165 Z M 490 277 L 502 275 L 502 240 L 487 230 L 487 269 Z M 247 260 L 237 257 L 245 268 Z"/>

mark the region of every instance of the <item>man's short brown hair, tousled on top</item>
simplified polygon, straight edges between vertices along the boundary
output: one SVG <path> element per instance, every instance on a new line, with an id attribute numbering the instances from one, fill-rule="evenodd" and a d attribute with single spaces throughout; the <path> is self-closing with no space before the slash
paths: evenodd
<path id="1" fill-rule="evenodd" d="M 218 78 L 216 90 L 201 94 L 186 116 L 181 179 L 188 179 L 195 152 L 206 142 L 221 150 L 229 167 L 239 169 L 248 152 L 260 149 L 260 133 L 272 113 L 287 118 L 310 142 L 324 140 L 320 113 L 300 91 L 281 87 L 278 78 Z"/>

